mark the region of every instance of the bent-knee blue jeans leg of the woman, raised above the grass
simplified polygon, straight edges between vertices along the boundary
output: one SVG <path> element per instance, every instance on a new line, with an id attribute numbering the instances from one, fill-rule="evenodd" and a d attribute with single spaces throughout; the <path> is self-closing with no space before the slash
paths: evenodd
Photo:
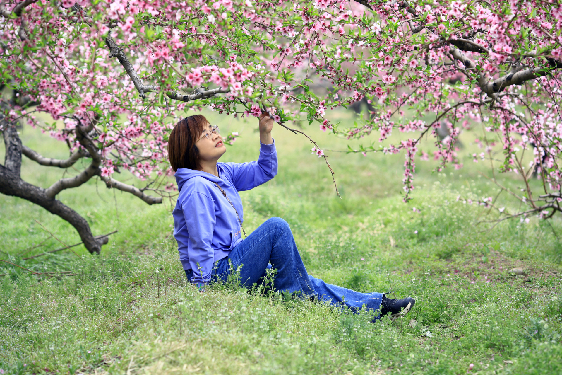
<path id="1" fill-rule="evenodd" d="M 289 224 L 281 218 L 270 218 L 253 231 L 248 238 L 234 247 L 227 258 L 219 261 L 216 274 L 225 279 L 230 272 L 228 261 L 234 269 L 243 264 L 241 284 L 251 286 L 265 275 L 268 263 L 277 269 L 274 288 L 278 291 L 301 291 L 315 295 L 305 265 L 298 254 Z"/>

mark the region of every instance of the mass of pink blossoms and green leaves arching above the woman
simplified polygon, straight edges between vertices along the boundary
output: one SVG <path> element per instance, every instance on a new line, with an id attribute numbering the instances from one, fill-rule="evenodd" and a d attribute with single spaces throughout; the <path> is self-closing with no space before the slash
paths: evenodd
<path id="1" fill-rule="evenodd" d="M 93 126 L 105 177 L 170 175 L 167 137 L 185 110 L 257 117 L 271 107 L 279 124 L 306 116 L 323 132 L 361 139 L 374 131 L 383 153 L 404 151 L 406 201 L 422 139 L 433 142 L 422 160 L 433 153 L 437 170 L 461 168 L 459 135 L 480 128 L 496 139 L 484 154 L 503 153 L 501 171 L 522 174 L 520 155 L 532 148 L 532 168 L 560 192 L 556 3 L 80 0 L 31 3 L 0 24 L 2 84 L 39 102 L 33 110 L 7 103 L 6 115 L 42 126 L 71 152 L 83 147 L 77 126 Z M 368 110 L 357 121 L 334 125 L 330 111 L 361 104 Z M 402 133 L 408 139 L 391 141 Z M 325 156 L 316 144 L 312 153 Z"/>

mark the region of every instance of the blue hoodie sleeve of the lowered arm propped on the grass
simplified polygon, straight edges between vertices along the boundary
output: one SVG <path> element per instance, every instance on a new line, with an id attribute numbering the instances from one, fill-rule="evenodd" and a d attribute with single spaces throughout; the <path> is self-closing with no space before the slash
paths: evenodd
<path id="1" fill-rule="evenodd" d="M 182 202 L 185 226 L 189 232 L 187 246 L 189 264 L 193 269 L 193 283 L 208 283 L 214 262 L 211 247 L 215 230 L 215 201 L 206 195 L 193 192 Z"/>

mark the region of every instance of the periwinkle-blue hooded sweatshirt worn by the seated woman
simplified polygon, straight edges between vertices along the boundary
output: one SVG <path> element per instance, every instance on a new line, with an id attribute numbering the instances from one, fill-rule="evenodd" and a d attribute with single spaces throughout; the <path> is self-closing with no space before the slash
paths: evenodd
<path id="1" fill-rule="evenodd" d="M 242 242 L 242 228 L 236 213 L 215 182 L 230 198 L 243 223 L 238 192 L 260 186 L 277 174 L 275 143 L 261 143 L 257 161 L 218 162 L 216 169 L 219 177 L 187 168 L 175 173 L 179 196 L 172 213 L 174 237 L 183 269 L 193 270 L 191 281 L 194 283 L 208 283 L 213 263 L 228 256 L 230 250 Z"/>

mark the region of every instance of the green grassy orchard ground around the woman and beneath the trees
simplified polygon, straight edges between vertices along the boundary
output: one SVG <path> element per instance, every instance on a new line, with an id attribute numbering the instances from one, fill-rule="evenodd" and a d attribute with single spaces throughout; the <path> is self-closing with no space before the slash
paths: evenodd
<path id="1" fill-rule="evenodd" d="M 334 116 L 352 121 L 348 112 Z M 221 130 L 242 132 L 225 161 L 255 160 L 253 123 L 210 118 Z M 0 278 L 0 369 L 71 375 L 562 372 L 562 222 L 533 218 L 493 227 L 483 222 L 493 214 L 457 200 L 497 192 L 469 156 L 482 151 L 472 144 L 473 134 L 463 135 L 464 169 L 433 174 L 435 162 L 418 162 L 415 199 L 406 205 L 402 155 L 327 152 L 339 199 L 306 139 L 274 132 L 279 174 L 241 194 L 246 230 L 270 216 L 284 218 L 310 274 L 359 291 L 412 296 L 416 305 L 406 318 L 371 324 L 366 312 L 282 301 L 228 284 L 197 293 L 178 260 L 170 206 L 147 206 L 92 181 L 59 198 L 88 218 L 94 234 L 119 231 L 100 256 L 77 246 L 76 254 L 23 260 L 62 247 L 35 220 L 69 245 L 78 236 L 40 207 L 0 197 L 0 259 L 36 272 L 72 273 L 38 282 L 16 266 L 0 266 L 6 274 Z M 312 133 L 325 148 L 347 145 Z M 33 129 L 24 128 L 22 139 L 44 155 L 66 156 L 64 145 Z M 24 159 L 22 177 L 39 186 L 63 173 Z M 502 178 L 513 188 L 521 184 L 513 175 Z M 504 204 L 517 208 L 507 198 Z M 523 274 L 510 273 L 513 268 Z"/>

